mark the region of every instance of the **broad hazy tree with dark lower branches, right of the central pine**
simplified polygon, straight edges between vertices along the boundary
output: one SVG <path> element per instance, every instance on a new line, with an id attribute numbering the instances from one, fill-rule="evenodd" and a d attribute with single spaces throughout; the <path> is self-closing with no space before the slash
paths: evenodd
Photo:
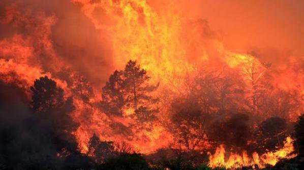
<path id="1" fill-rule="evenodd" d="M 241 110 L 237 99 L 240 100 L 244 95 L 244 83 L 237 77 L 230 70 L 200 71 L 188 81 L 188 93 L 185 97 L 175 99 L 171 105 L 171 122 L 174 128 L 172 124 L 167 125 L 177 144 L 192 150 L 209 140 L 219 141 L 208 137 L 211 133 L 207 131 L 210 131 L 210 126 L 215 130 L 223 125 L 217 119 Z"/>

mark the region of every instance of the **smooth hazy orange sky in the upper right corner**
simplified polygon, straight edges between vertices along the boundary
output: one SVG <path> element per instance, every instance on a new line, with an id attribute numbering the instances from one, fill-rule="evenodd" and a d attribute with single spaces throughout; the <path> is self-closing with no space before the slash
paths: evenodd
<path id="1" fill-rule="evenodd" d="M 304 55 L 304 1 L 180 1 L 186 15 L 208 20 L 232 51 L 266 48 Z"/>

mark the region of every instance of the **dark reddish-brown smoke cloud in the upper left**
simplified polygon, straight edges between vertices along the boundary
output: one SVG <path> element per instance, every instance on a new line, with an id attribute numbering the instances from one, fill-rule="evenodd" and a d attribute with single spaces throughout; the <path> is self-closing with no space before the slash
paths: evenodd
<path id="1" fill-rule="evenodd" d="M 0 8 L 2 21 L 13 17 L 0 22 L 0 40 L 17 34 L 30 39 L 27 46 L 34 48 L 31 65 L 41 65 L 44 71 L 63 79 L 57 73 L 69 67 L 96 86 L 106 80 L 112 70 L 110 43 L 77 5 L 67 0 L 17 0 L 3 1 Z"/>

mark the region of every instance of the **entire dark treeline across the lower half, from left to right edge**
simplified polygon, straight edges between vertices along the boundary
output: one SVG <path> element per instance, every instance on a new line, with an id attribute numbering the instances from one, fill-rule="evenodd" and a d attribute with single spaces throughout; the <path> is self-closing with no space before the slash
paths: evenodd
<path id="1" fill-rule="evenodd" d="M 90 138 L 87 153 L 80 153 L 73 134 L 79 127 L 72 117 L 73 98 L 77 96 L 89 103 L 93 94 L 82 76 L 74 75 L 75 81 L 68 83 L 73 94 L 68 97 L 47 76 L 35 80 L 31 99 L 18 80 L 0 81 L 0 169 L 210 169 L 206 165 L 206 150 L 201 150 L 204 142 L 212 146 L 225 144 L 236 151 L 248 148 L 264 152 L 275 149 L 289 133 L 296 138 L 298 156 L 269 168 L 301 169 L 304 116 L 299 117 L 295 131 L 294 125 L 286 121 L 286 115 L 300 107 L 297 92 L 269 95 L 271 88 L 267 90 L 265 85 L 269 79 L 261 80 L 266 73 L 256 79 L 256 72 L 250 74 L 255 83 L 251 83 L 250 93 L 237 74 L 200 72 L 187 81 L 183 95 L 170 100 L 170 116 L 164 121 L 159 118 L 162 98 L 154 94 L 159 84 L 149 82 L 146 70 L 129 61 L 124 70 L 115 71 L 103 87 L 102 101 L 97 106 L 109 116 L 131 117 L 134 121 L 124 126 L 124 131 L 148 131 L 154 123 L 166 127 L 174 137 L 172 147 L 150 155 L 142 155 L 126 143 L 103 141 L 98 135 Z M 278 98 L 268 99 L 273 95 Z M 271 102 L 277 103 L 279 99 L 278 110 Z M 272 116 L 262 119 L 268 113 Z M 248 144 L 252 139 L 256 142 Z"/>

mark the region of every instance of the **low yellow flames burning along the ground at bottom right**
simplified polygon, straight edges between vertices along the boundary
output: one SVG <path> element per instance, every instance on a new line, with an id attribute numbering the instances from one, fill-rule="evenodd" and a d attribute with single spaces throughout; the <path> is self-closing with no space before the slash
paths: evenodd
<path id="1" fill-rule="evenodd" d="M 228 159 L 225 159 L 226 151 L 224 145 L 220 145 L 213 155 L 209 153 L 209 166 L 212 168 L 225 167 L 235 169 L 243 166 L 254 167 L 254 165 L 258 165 L 259 167 L 265 167 L 267 164 L 276 165 L 283 158 L 290 159 L 296 156 L 296 154 L 293 154 L 293 141 L 291 137 L 287 137 L 282 148 L 273 152 L 268 151 L 261 156 L 254 152 L 252 158 L 248 156 L 246 151 L 243 151 L 242 155 L 229 153 Z"/>

